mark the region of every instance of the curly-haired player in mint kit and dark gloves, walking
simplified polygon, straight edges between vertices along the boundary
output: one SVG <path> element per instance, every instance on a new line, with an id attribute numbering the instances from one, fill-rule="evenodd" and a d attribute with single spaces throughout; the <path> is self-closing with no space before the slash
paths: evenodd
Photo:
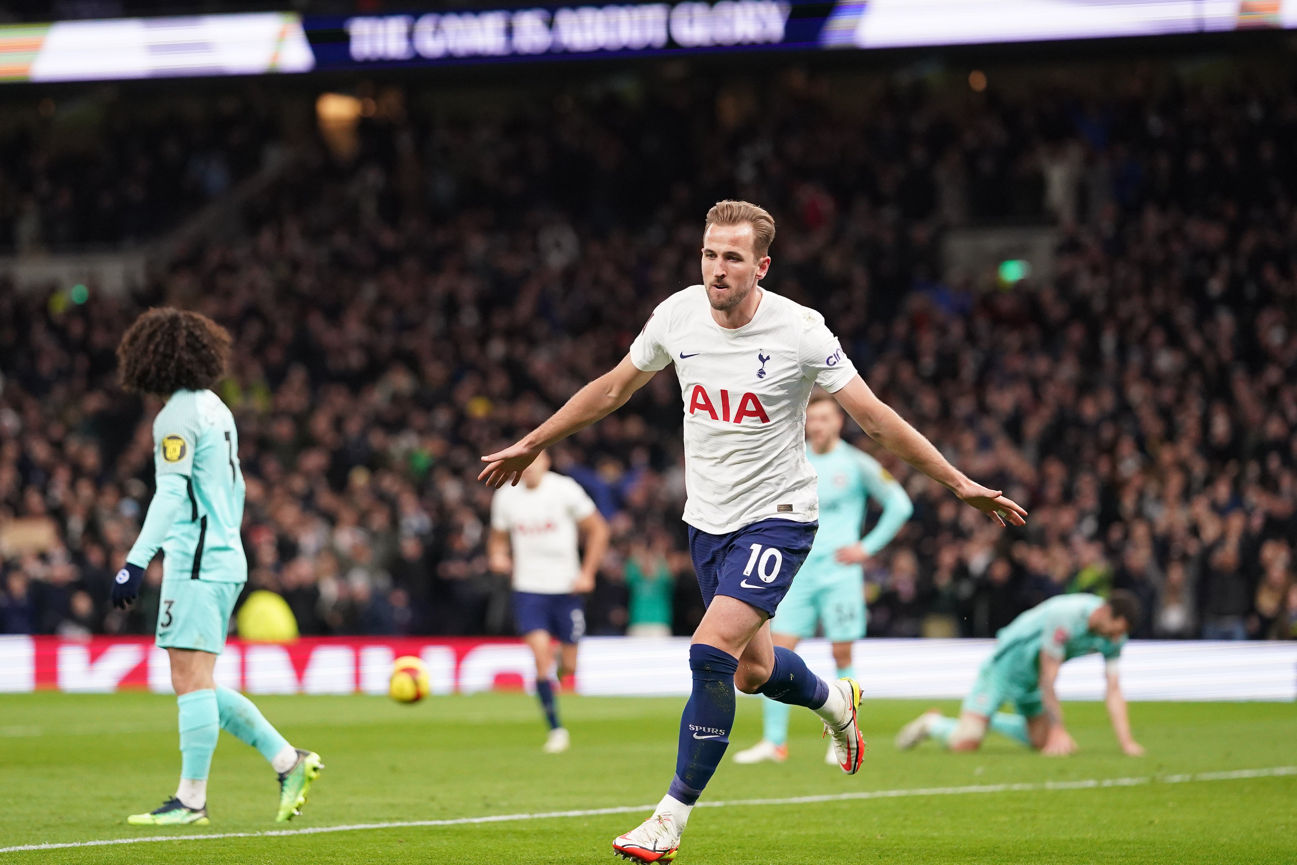
<path id="1" fill-rule="evenodd" d="M 157 645 L 167 650 L 180 707 L 180 786 L 162 807 L 132 814 L 136 826 L 208 822 L 208 770 L 223 729 L 261 751 L 279 773 L 285 821 L 306 801 L 319 755 L 291 746 L 252 700 L 213 680 L 230 613 L 248 580 L 239 530 L 244 480 L 233 415 L 208 390 L 224 375 L 230 335 L 196 313 L 154 309 L 117 349 L 122 386 L 167 402 L 153 421 L 157 490 L 140 536 L 113 584 L 113 604 L 139 594 L 162 549 Z"/>

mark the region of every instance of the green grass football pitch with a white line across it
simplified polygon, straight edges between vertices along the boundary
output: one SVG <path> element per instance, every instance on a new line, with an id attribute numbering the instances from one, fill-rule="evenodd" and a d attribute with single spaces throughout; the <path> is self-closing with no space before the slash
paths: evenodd
<path id="1" fill-rule="evenodd" d="M 307 829 L 655 803 L 674 766 L 684 699 L 563 698 L 572 750 L 558 756 L 541 753 L 545 730 L 521 694 L 409 707 L 366 696 L 257 703 L 294 744 L 324 757 L 311 801 L 288 825 Z M 726 760 L 704 800 L 1297 765 L 1294 704 L 1135 704 L 1141 759 L 1121 755 L 1097 703 L 1066 707 L 1082 746 L 1069 759 L 999 738 L 975 755 L 931 743 L 895 752 L 895 731 L 930 704 L 866 702 L 870 748 L 850 778 L 822 764 L 817 722 L 795 709 L 789 761 Z M 209 827 L 126 825 L 175 790 L 175 715 L 173 698 L 150 694 L 0 696 L 0 847 L 281 829 L 274 774 L 227 734 L 213 763 Z M 741 699 L 732 751 L 759 735 L 760 705 Z M 699 808 L 677 862 L 1293 862 L 1294 805 L 1297 776 Z M 18 851 L 0 862 L 611 862 L 612 838 L 642 816 Z"/>

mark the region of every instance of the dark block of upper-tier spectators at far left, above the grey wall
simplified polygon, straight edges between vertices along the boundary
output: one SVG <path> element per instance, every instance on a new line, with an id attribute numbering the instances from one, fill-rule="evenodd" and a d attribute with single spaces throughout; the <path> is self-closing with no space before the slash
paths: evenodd
<path id="1" fill-rule="evenodd" d="M 274 141 L 265 106 L 214 100 L 39 100 L 0 113 L 0 250 L 147 241 L 253 174 Z"/>

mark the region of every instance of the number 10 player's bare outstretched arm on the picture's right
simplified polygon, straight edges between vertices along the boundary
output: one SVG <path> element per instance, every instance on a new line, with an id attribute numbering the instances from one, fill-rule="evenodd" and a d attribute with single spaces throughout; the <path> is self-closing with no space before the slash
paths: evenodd
<path id="1" fill-rule="evenodd" d="M 958 495 L 965 503 L 988 515 L 1000 525 L 1005 525 L 1006 521 L 1012 525 L 1026 525 L 1025 510 L 1001 495 L 1000 490 L 975 484 L 951 466 L 933 442 L 874 396 L 859 375 L 833 396 L 870 438 Z"/>

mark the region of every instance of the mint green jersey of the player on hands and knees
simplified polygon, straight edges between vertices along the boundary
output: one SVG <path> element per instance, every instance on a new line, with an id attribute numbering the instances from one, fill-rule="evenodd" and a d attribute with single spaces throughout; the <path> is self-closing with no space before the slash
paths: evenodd
<path id="1" fill-rule="evenodd" d="M 1032 607 L 995 635 L 988 664 L 1012 683 L 1035 687 L 1040 681 L 1040 652 L 1060 661 L 1092 652 L 1115 660 L 1126 637 L 1112 641 L 1089 632 L 1089 616 L 1101 606 L 1099 595 L 1075 594 L 1056 595 Z"/>

